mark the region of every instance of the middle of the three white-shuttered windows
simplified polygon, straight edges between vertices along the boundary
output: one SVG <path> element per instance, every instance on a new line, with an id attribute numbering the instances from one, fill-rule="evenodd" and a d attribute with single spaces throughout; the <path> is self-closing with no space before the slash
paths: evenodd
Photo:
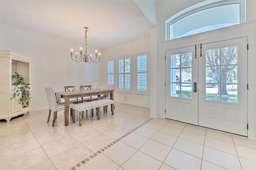
<path id="1" fill-rule="evenodd" d="M 118 90 L 131 93 L 131 56 L 121 57 L 118 61 Z"/>

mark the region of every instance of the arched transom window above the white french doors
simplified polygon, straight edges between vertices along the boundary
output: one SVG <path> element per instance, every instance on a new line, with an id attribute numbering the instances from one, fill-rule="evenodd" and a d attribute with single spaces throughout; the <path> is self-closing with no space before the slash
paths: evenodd
<path id="1" fill-rule="evenodd" d="M 214 2 L 214 3 L 212 3 Z M 244 1 L 205 1 L 166 20 L 166 40 L 224 28 L 244 22 Z"/>

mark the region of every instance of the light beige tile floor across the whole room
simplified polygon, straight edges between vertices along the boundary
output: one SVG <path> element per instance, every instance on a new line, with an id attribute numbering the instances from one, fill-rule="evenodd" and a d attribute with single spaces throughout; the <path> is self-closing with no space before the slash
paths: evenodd
<path id="1" fill-rule="evenodd" d="M 48 109 L 0 122 L 1 170 L 255 170 L 256 141 L 167 119 L 150 109 L 115 103 L 115 114 L 86 116 L 82 127 L 55 126 Z M 53 114 L 52 114 L 53 115 Z M 52 120 L 52 117 L 51 119 Z"/>

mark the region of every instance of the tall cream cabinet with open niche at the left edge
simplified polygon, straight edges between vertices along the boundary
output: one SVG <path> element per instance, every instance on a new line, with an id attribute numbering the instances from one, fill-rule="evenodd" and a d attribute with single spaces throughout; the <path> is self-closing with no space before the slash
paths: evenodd
<path id="1" fill-rule="evenodd" d="M 18 72 L 30 83 L 30 63 L 32 58 L 14 51 L 0 51 L 0 119 L 10 122 L 12 117 L 29 113 L 30 102 L 19 103 L 12 99 L 12 75 Z"/>

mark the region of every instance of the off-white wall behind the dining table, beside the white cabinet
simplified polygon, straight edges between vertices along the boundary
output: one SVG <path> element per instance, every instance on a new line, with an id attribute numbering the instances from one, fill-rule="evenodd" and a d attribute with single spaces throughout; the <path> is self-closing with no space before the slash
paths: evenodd
<path id="1" fill-rule="evenodd" d="M 80 81 L 81 85 L 90 85 L 95 77 L 100 77 L 98 71 L 100 64 L 72 61 L 70 49 L 76 51 L 84 45 L 65 42 L 5 24 L 0 26 L 0 50 L 11 50 L 33 58 L 30 75 L 32 110 L 48 108 L 45 86 L 53 87 L 54 91 L 64 91 L 64 86 L 73 85 L 74 81 Z M 94 49 L 88 47 L 88 53 L 93 54 Z"/>

